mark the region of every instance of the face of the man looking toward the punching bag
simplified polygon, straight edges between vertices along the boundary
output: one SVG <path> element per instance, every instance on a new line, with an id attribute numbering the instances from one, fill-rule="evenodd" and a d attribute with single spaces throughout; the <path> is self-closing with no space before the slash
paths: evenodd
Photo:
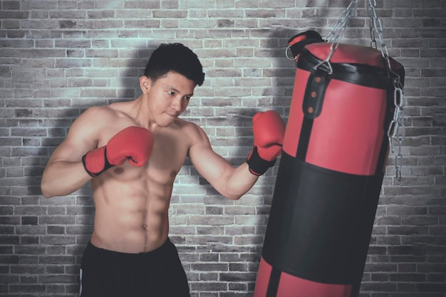
<path id="1" fill-rule="evenodd" d="M 155 82 L 149 80 L 149 84 L 147 104 L 151 120 L 162 127 L 170 125 L 185 111 L 196 86 L 193 80 L 172 71 Z"/>

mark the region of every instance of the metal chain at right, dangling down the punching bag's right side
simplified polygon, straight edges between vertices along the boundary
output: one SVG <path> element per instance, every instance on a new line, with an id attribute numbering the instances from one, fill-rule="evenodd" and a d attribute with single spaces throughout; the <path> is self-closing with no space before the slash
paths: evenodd
<path id="1" fill-rule="evenodd" d="M 395 111 L 393 113 L 393 119 L 390 122 L 387 137 L 390 145 L 390 152 L 395 152 L 394 142 L 397 142 L 398 152 L 395 154 L 395 174 L 398 181 L 401 180 L 401 169 L 403 167 L 403 153 L 402 146 L 403 140 L 405 138 L 405 125 L 404 125 L 404 110 L 403 110 L 403 84 L 400 80 L 400 75 L 392 71 L 392 66 L 390 64 L 390 58 L 388 53 L 388 48 L 385 45 L 383 38 L 383 26 L 381 25 L 380 19 L 376 14 L 376 1 L 375 0 L 365 0 L 367 6 L 367 15 L 369 17 L 370 24 L 370 46 L 372 48 L 377 48 L 375 33 L 378 33 L 378 38 L 380 41 L 380 50 L 385 63 L 387 64 L 387 69 L 389 76 L 393 83 L 393 105 Z"/>

